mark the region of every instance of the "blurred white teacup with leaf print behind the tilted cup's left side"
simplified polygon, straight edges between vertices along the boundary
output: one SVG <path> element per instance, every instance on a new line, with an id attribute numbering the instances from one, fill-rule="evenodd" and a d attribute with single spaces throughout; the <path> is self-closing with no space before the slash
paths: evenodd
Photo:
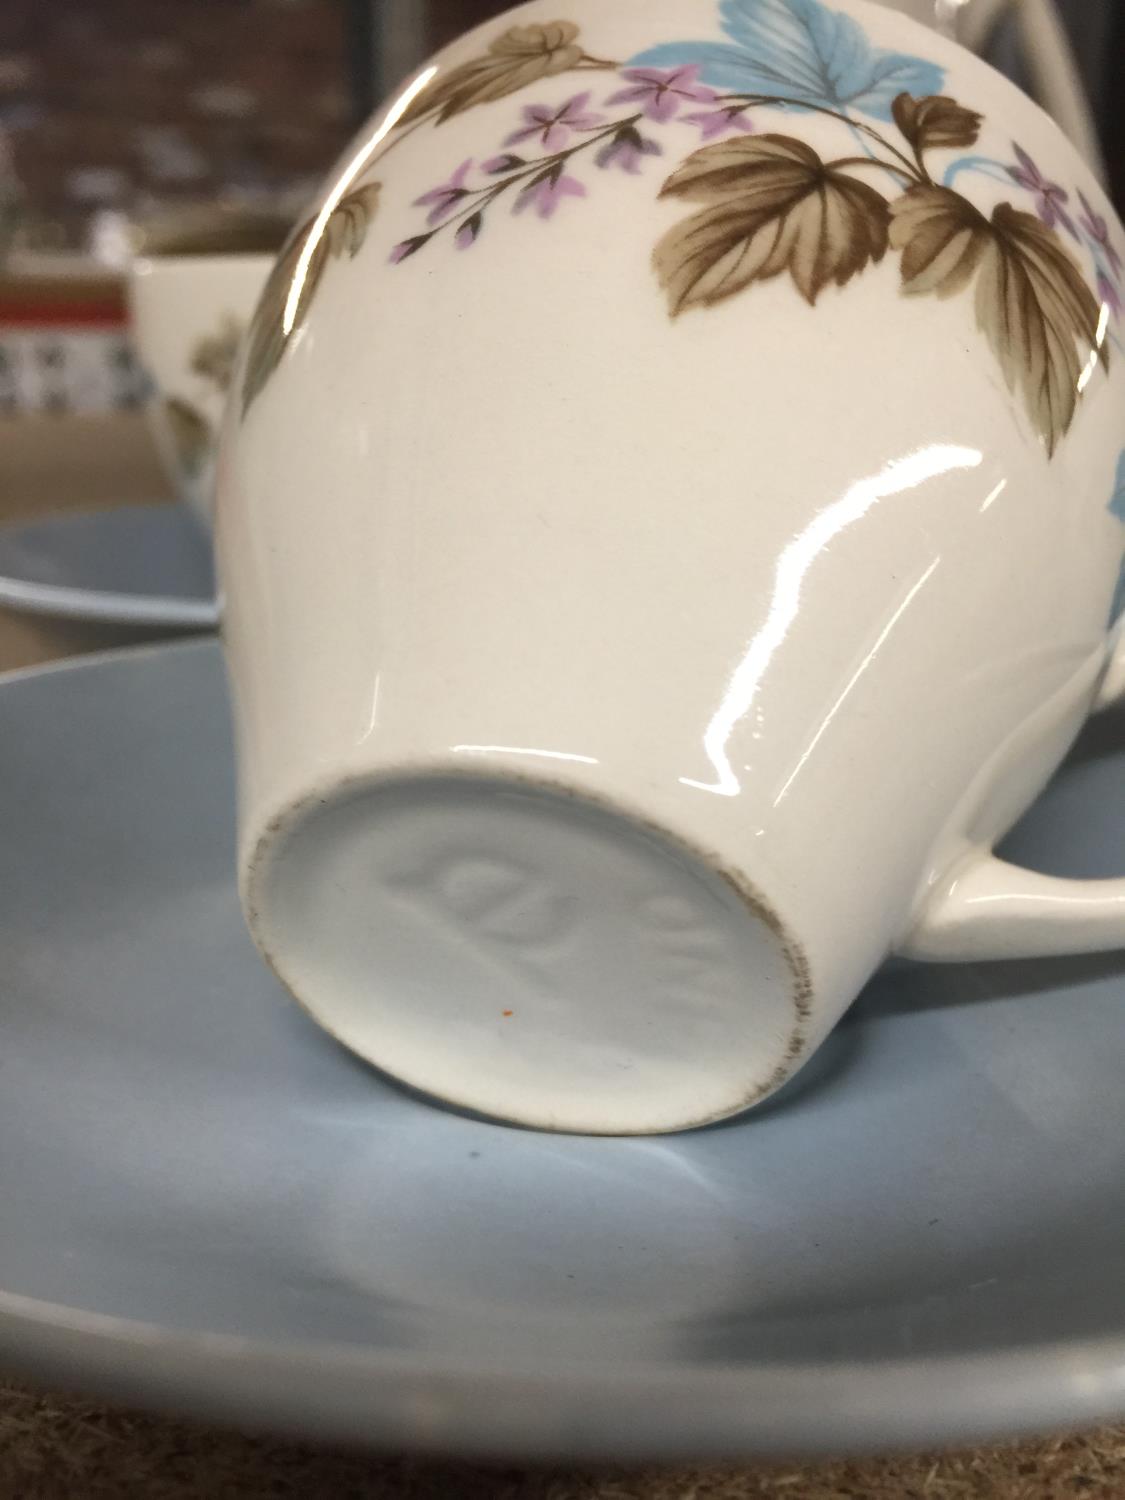
<path id="1" fill-rule="evenodd" d="M 150 426 L 183 500 L 210 524 L 226 392 L 288 220 L 207 204 L 142 225 L 129 276 Z"/>

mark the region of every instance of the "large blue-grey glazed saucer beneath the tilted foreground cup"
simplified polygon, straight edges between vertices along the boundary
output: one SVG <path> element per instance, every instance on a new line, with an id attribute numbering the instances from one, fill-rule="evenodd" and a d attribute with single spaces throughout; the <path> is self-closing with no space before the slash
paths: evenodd
<path id="1" fill-rule="evenodd" d="M 58 734 L 60 724 L 68 734 Z M 1008 852 L 1120 868 L 1102 720 Z M 0 684 L 0 1353 L 394 1449 L 918 1449 L 1125 1412 L 1125 960 L 886 972 L 735 1124 L 435 1108 L 243 928 L 214 642 Z"/>

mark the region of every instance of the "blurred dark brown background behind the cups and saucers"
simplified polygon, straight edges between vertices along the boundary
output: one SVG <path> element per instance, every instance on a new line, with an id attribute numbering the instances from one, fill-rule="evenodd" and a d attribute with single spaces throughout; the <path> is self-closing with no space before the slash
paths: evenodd
<path id="1" fill-rule="evenodd" d="M 1053 3 L 1107 180 L 1125 201 L 1125 0 L 897 3 L 975 24 L 986 56 L 1040 94 L 1058 46 L 1041 32 L 1038 56 L 1029 50 L 1018 14 Z M 291 220 L 380 98 L 502 9 L 492 0 L 3 0 L 0 532 L 45 510 L 172 498 L 140 410 L 146 375 L 126 326 L 136 225 L 214 204 Z M 44 618 L 32 628 L 0 612 L 0 669 L 106 644 L 96 633 L 80 640 L 74 620 Z"/>

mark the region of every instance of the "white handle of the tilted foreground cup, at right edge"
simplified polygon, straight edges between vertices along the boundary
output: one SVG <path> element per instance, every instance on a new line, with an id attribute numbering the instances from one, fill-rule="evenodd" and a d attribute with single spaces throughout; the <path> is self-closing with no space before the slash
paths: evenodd
<path id="1" fill-rule="evenodd" d="M 1094 711 L 1125 700 L 1125 624 Z M 974 850 L 921 906 L 898 952 L 906 958 L 1047 958 L 1125 948 L 1125 878 L 1068 880 Z"/>

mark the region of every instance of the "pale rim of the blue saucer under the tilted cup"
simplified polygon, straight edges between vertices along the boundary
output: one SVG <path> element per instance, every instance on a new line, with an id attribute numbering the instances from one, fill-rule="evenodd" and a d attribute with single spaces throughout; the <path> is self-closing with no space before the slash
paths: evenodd
<path id="1" fill-rule="evenodd" d="M 68 657 L 0 675 L 0 693 L 184 652 L 202 662 L 220 648 L 200 636 Z M 915 1358 L 548 1365 L 183 1329 L 2 1286 L 0 1362 L 12 1377 L 171 1414 L 482 1458 L 818 1458 L 1058 1432 L 1125 1412 L 1122 1335 Z"/>

